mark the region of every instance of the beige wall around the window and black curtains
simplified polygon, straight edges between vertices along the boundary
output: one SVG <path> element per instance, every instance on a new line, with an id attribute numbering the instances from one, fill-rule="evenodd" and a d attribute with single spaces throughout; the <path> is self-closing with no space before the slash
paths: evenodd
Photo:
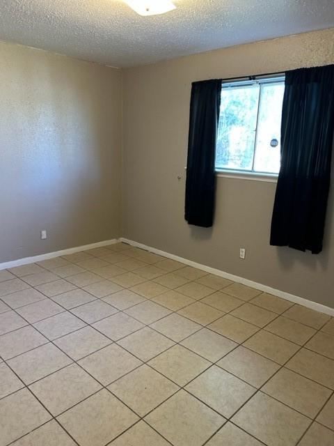
<path id="1" fill-rule="evenodd" d="M 328 63 L 334 29 L 125 70 L 123 236 L 334 307 L 333 192 L 317 256 L 269 246 L 273 183 L 218 178 L 213 228 L 184 222 L 191 82 Z"/>

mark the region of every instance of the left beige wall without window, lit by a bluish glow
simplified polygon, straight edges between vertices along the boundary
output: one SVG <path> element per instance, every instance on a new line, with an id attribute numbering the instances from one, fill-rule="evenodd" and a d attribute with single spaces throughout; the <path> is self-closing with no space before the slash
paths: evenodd
<path id="1" fill-rule="evenodd" d="M 0 263 L 120 236 L 121 71 L 5 43 L 0 61 Z"/>

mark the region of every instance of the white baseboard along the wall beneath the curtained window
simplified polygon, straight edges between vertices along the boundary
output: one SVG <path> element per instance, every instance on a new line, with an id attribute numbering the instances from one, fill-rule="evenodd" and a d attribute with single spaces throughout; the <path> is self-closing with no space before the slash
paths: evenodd
<path id="1" fill-rule="evenodd" d="M 147 245 L 143 245 L 143 243 L 137 243 L 133 240 L 128 240 L 127 238 L 120 238 L 120 242 L 128 243 L 129 245 L 146 249 L 154 254 L 159 254 L 160 256 L 167 257 L 168 259 L 176 260 L 186 265 L 193 266 L 193 268 L 198 268 L 199 270 L 203 270 L 209 272 L 211 274 L 215 274 L 217 276 L 225 277 L 225 279 L 230 279 L 233 282 L 239 282 L 240 284 L 244 284 L 247 286 L 251 286 L 252 288 L 258 289 L 260 291 L 264 291 L 264 293 L 269 293 L 278 296 L 278 298 L 283 298 L 289 300 L 290 302 L 294 302 L 295 304 L 303 305 L 304 307 L 308 307 L 310 309 L 315 309 L 317 312 L 329 314 L 330 316 L 334 316 L 334 308 L 326 307 L 326 305 L 321 305 L 317 302 L 313 302 L 312 300 L 308 300 L 305 298 L 301 298 L 298 295 L 290 294 L 285 291 L 277 290 L 275 288 L 271 288 L 271 286 L 267 286 L 264 284 L 259 284 L 257 282 L 253 282 L 253 280 L 244 279 L 244 277 L 235 276 L 230 274 L 229 272 L 216 270 L 216 268 L 211 268 L 210 266 L 202 265 L 201 263 L 193 262 L 189 259 L 184 259 L 180 256 L 175 256 L 175 254 L 170 254 L 169 252 L 161 251 L 161 249 L 156 249 L 154 247 L 150 247 Z"/>

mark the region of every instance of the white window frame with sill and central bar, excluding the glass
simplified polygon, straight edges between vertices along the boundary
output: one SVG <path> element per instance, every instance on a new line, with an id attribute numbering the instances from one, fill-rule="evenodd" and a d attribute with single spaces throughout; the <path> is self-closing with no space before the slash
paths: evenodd
<path id="1" fill-rule="evenodd" d="M 250 76 L 241 79 L 228 79 L 226 81 L 222 81 L 222 88 L 238 88 L 239 86 L 247 86 L 254 84 L 276 84 L 278 82 L 285 81 L 285 73 L 277 73 L 275 75 L 264 75 L 264 76 Z M 278 174 L 270 173 L 270 172 L 260 172 L 253 170 L 254 162 L 255 162 L 255 153 L 256 153 L 256 139 L 257 139 L 257 125 L 258 125 L 258 117 L 260 110 L 260 99 L 261 99 L 261 88 L 259 93 L 259 102 L 257 106 L 257 121 L 255 128 L 255 144 L 254 144 L 254 153 L 253 153 L 253 165 L 252 170 L 246 169 L 218 169 L 215 167 L 216 176 L 224 177 L 224 178 L 238 178 L 238 179 L 246 179 L 246 180 L 257 180 L 257 181 L 266 181 L 269 183 L 277 183 Z"/>

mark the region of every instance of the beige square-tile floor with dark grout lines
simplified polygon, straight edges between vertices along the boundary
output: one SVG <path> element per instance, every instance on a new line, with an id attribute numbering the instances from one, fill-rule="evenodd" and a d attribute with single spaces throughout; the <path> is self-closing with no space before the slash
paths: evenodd
<path id="1" fill-rule="evenodd" d="M 333 446 L 334 318 L 122 243 L 0 271 L 0 446 Z"/>

